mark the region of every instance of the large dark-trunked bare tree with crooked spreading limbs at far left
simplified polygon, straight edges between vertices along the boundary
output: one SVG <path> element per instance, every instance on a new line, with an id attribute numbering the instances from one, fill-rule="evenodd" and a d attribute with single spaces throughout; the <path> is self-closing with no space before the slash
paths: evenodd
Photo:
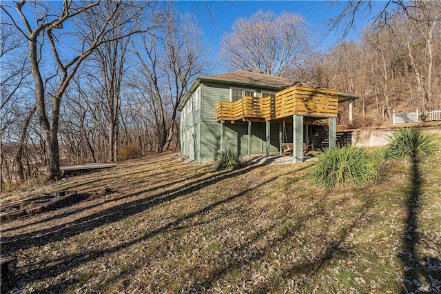
<path id="1" fill-rule="evenodd" d="M 37 106 L 37 114 L 39 118 L 39 124 L 45 138 L 45 144 L 48 150 L 48 179 L 59 179 L 59 115 L 61 99 L 65 90 L 68 88 L 70 81 L 74 77 L 76 70 L 78 70 L 81 63 L 88 58 L 96 48 L 101 44 L 113 41 L 115 39 L 112 33 L 114 30 L 121 26 L 130 23 L 138 14 L 127 16 L 123 19 L 114 20 L 114 17 L 118 14 L 119 10 L 124 9 L 125 6 L 130 5 L 123 3 L 123 1 L 117 1 L 112 8 L 108 11 L 107 15 L 103 15 L 103 19 L 100 23 L 96 23 L 96 27 L 88 32 L 88 35 L 83 35 L 78 45 L 76 54 L 72 57 L 72 51 L 65 56 L 62 56 L 63 46 L 67 46 L 72 40 L 68 37 L 59 34 L 63 32 L 63 24 L 77 17 L 83 17 L 86 12 L 92 10 L 97 6 L 102 5 L 101 1 L 88 1 L 78 2 L 65 0 L 62 3 L 61 12 L 57 8 L 51 7 L 44 2 L 30 2 L 30 9 L 23 10 L 23 7 L 27 5 L 27 2 L 16 1 L 14 6 L 9 3 L 1 3 L 1 10 L 9 17 L 10 26 L 13 26 L 22 36 L 28 41 L 28 59 L 30 62 L 30 68 L 32 77 L 34 78 L 35 87 L 35 100 Z M 15 10 L 19 15 L 19 19 L 13 17 L 12 10 Z M 34 19 L 34 26 L 31 25 L 31 21 Z M 5 25 L 5 24 L 3 24 Z M 70 26 L 66 26 L 70 28 Z M 132 35 L 134 32 L 130 30 L 126 35 L 119 35 L 117 39 Z M 92 42 L 88 42 L 92 39 Z M 43 50 L 44 41 L 47 40 L 50 44 L 50 50 L 52 56 L 48 56 L 48 52 Z M 40 62 L 40 57 L 48 57 L 49 61 L 54 61 L 57 70 L 48 73 L 48 70 L 44 69 L 43 63 Z M 50 79 L 57 78 L 57 87 L 53 93 L 48 92 L 46 84 Z M 49 112 L 46 107 L 45 98 L 52 97 L 52 110 Z"/>

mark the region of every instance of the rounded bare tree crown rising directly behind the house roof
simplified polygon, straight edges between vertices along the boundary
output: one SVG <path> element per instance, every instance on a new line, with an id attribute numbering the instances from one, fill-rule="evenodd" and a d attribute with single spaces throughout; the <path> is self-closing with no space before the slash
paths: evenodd
<path id="1" fill-rule="evenodd" d="M 299 14 L 258 10 L 249 19 L 236 19 L 233 32 L 220 42 L 220 57 L 229 69 L 284 76 L 302 64 L 310 50 L 308 31 Z"/>

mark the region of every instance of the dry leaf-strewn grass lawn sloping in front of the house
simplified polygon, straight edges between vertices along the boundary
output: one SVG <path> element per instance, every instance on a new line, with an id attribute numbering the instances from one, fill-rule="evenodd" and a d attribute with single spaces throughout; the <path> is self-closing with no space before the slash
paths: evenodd
<path id="1" fill-rule="evenodd" d="M 378 184 L 325 189 L 311 163 L 223 173 L 146 157 L 3 195 L 89 196 L 1 224 L 1 255 L 18 257 L 21 293 L 441 291 L 440 163 L 423 159 L 416 179 L 393 161 Z"/>

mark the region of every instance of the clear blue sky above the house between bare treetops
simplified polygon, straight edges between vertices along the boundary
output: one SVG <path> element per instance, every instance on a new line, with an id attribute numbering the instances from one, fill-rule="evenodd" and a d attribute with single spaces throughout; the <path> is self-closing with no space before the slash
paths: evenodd
<path id="1" fill-rule="evenodd" d="M 329 1 L 178 1 L 176 8 L 180 12 L 196 13 L 199 26 L 203 29 L 205 39 L 212 48 L 211 58 L 216 59 L 221 37 L 232 32 L 232 25 L 238 17 L 251 17 L 259 9 L 272 10 L 276 13 L 282 11 L 301 14 L 311 25 L 311 37 L 316 39 L 317 50 L 327 50 L 335 45 L 341 36 L 341 32 L 334 31 L 325 34 L 325 21 L 335 17 L 344 2 L 340 6 L 331 6 Z M 209 8 L 211 16 L 203 6 Z M 384 6 L 384 1 L 374 1 L 373 8 Z M 369 18 L 356 19 L 356 31 L 351 32 L 347 39 L 358 40 L 360 32 Z M 223 68 L 216 66 L 213 73 L 223 72 Z"/>

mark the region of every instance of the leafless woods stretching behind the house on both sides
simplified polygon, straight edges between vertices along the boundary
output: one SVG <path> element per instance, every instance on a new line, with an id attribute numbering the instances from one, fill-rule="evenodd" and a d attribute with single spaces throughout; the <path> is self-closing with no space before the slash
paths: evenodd
<path id="1" fill-rule="evenodd" d="M 340 42 L 314 50 L 304 17 L 256 12 L 223 37 L 218 62 L 360 95 L 349 127 L 390 124 L 392 110 L 441 105 L 441 3 L 388 1 L 360 41 L 345 41 L 370 1 L 336 3 Z M 173 3 L 1 3 L 1 181 L 48 166 L 118 161 L 178 149 L 176 108 L 209 75 L 203 31 Z M 348 124 L 343 106 L 340 124 Z M 2 184 L 3 186 L 3 184 Z"/>

